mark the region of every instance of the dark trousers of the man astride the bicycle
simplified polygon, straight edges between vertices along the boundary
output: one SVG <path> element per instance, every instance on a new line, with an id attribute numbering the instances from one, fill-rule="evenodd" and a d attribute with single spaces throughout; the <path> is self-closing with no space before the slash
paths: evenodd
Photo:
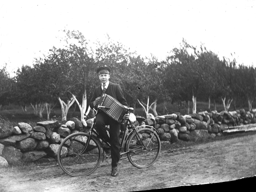
<path id="1" fill-rule="evenodd" d="M 109 137 L 107 131 L 105 130 L 105 126 L 109 125 Z M 120 123 L 113 120 L 103 111 L 96 114 L 95 119 L 95 128 L 99 133 L 99 136 L 110 143 L 110 150 L 111 150 L 111 165 L 117 166 L 118 161 L 120 159 L 120 152 L 119 152 L 119 132 L 120 132 Z"/>

